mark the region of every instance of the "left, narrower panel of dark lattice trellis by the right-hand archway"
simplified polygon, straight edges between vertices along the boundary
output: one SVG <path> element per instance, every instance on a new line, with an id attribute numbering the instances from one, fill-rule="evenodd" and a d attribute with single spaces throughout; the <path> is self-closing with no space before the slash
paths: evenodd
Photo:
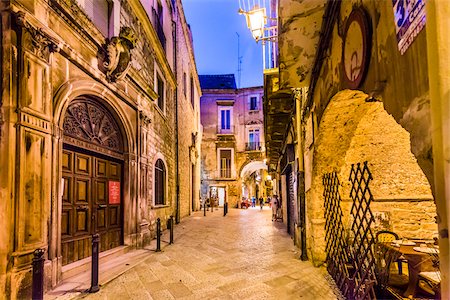
<path id="1" fill-rule="evenodd" d="M 325 199 L 325 234 L 327 269 L 340 290 L 343 290 L 346 279 L 349 278 L 347 265 L 348 246 L 345 228 L 342 222 L 341 196 L 339 194 L 339 178 L 336 172 L 327 173 L 322 178 Z"/>

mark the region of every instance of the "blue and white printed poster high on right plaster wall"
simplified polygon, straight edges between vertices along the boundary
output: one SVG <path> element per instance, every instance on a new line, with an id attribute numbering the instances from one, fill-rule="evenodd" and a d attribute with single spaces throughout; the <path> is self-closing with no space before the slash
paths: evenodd
<path id="1" fill-rule="evenodd" d="M 425 0 L 392 0 L 398 50 L 403 55 L 425 27 Z"/>

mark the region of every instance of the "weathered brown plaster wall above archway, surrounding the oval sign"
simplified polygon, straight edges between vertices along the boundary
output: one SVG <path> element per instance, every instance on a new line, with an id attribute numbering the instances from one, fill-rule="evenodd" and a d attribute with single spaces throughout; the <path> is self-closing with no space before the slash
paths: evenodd
<path id="1" fill-rule="evenodd" d="M 339 90 L 347 88 L 342 73 L 343 33 L 340 30 L 345 28 L 346 18 L 354 5 L 362 5 L 372 27 L 370 63 L 359 89 L 382 100 L 386 111 L 410 133 L 413 154 L 429 182 L 432 182 L 427 60 L 423 59 L 426 57 L 426 29 L 401 55 L 397 47 L 391 2 L 342 2 L 339 26 L 334 26 L 331 46 L 314 91 L 318 121 L 329 99 Z M 295 37 L 294 34 L 292 36 Z M 300 86 L 300 83 L 297 85 Z"/>

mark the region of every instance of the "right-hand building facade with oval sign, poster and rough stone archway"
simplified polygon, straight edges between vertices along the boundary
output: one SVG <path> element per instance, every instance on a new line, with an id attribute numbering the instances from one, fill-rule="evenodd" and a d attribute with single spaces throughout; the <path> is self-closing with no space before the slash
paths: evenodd
<path id="1" fill-rule="evenodd" d="M 279 65 L 265 73 L 266 155 L 301 258 L 330 263 L 332 243 L 360 238 L 354 228 L 369 237 L 438 237 L 448 295 L 448 116 L 440 113 L 436 82 L 446 80 L 435 60 L 447 34 L 436 7 L 448 4 L 276 2 Z M 363 202 L 368 210 L 358 217 Z"/>

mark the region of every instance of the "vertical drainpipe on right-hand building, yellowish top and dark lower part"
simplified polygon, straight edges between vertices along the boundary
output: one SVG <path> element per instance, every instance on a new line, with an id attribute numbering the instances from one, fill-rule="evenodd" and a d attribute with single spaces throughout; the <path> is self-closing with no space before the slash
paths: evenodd
<path id="1" fill-rule="evenodd" d="M 300 259 L 308 260 L 308 250 L 306 249 L 306 195 L 305 195 L 305 162 L 304 162 L 304 134 L 302 126 L 302 100 L 306 98 L 307 88 L 294 89 L 295 114 L 297 127 L 297 203 L 298 220 L 297 224 L 300 232 Z"/>

